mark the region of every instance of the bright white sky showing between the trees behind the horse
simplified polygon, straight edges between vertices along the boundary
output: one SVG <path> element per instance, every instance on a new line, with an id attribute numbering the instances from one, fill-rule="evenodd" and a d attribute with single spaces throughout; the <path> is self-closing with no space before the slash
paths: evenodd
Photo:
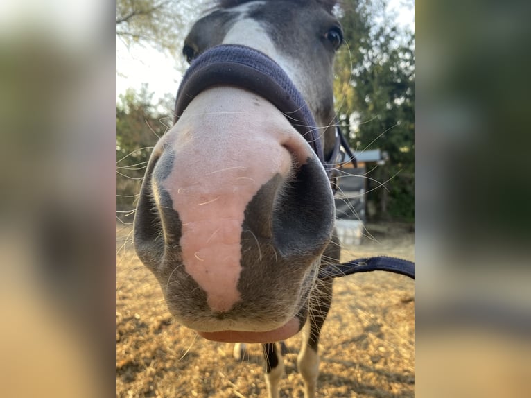
<path id="1" fill-rule="evenodd" d="M 403 0 L 390 0 L 388 10 L 397 10 L 399 26 L 415 31 L 415 8 L 404 6 Z M 166 93 L 177 94 L 182 77 L 173 58 L 149 47 L 128 50 L 121 40 L 116 40 L 116 72 L 116 98 L 128 88 L 138 90 L 148 83 L 155 102 Z"/>

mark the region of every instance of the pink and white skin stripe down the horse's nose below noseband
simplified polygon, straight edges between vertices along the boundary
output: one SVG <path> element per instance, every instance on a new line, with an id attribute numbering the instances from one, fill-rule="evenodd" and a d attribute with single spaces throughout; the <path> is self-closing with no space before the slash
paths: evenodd
<path id="1" fill-rule="evenodd" d="M 311 147 L 276 107 L 232 87 L 199 94 L 162 141 L 175 152 L 161 188 L 182 222 L 184 268 L 212 311 L 229 311 L 241 300 L 245 208 L 277 173 L 285 177 L 294 161 L 312 156 Z"/>

